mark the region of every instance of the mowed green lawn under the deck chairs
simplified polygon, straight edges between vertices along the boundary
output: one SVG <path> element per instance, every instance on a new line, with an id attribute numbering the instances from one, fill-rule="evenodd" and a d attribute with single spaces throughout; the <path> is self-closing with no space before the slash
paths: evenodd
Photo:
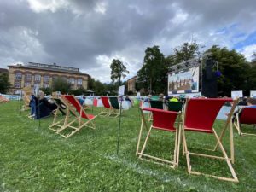
<path id="1" fill-rule="evenodd" d="M 230 183 L 189 176 L 182 155 L 178 169 L 138 159 L 141 119 L 137 108 L 122 117 L 119 155 L 118 118 L 97 117 L 96 130 L 84 128 L 65 139 L 48 129 L 52 116 L 39 122 L 19 109 L 20 102 L 0 105 L 0 191 L 256 191 L 256 137 L 239 137 L 234 130 L 234 168 L 240 182 Z M 93 108 L 93 113 L 99 113 L 99 108 Z M 218 132 L 222 125 L 223 121 L 216 122 Z M 145 152 L 167 158 L 173 138 L 169 132 L 154 131 Z M 214 143 L 211 135 L 188 135 L 189 148 L 195 151 L 212 148 Z M 230 153 L 228 137 L 224 147 Z M 195 171 L 230 177 L 224 161 L 192 157 L 191 163 Z"/>

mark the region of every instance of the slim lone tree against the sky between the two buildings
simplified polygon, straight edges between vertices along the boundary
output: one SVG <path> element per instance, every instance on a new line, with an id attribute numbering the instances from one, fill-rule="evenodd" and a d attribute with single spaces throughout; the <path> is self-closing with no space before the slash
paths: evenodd
<path id="1" fill-rule="evenodd" d="M 129 73 L 129 71 L 126 69 L 123 62 L 119 61 L 118 59 L 113 59 L 111 65 L 111 79 L 118 80 L 118 83 L 121 84 L 121 77 L 125 78 L 125 73 Z"/>

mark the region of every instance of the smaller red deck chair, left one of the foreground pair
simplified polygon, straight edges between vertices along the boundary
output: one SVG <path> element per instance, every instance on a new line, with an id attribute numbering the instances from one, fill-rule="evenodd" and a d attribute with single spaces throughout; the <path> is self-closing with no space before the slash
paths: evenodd
<path id="1" fill-rule="evenodd" d="M 153 114 L 153 123 L 148 129 L 147 122 L 144 117 L 143 110 L 150 111 Z M 177 112 L 170 112 L 170 111 L 165 111 L 162 109 L 157 109 L 157 108 L 143 108 L 143 110 L 140 108 L 140 112 L 142 115 L 142 124 L 141 124 L 141 129 L 139 132 L 138 136 L 138 142 L 137 142 L 137 151 L 136 154 L 139 156 L 140 159 L 143 160 L 154 160 L 155 163 L 160 163 L 160 164 L 166 164 L 168 166 L 171 166 L 172 168 L 178 166 L 178 160 L 179 160 L 179 146 L 180 146 L 180 137 L 181 137 L 181 124 L 179 123 L 177 127 L 175 127 L 174 123 L 176 119 L 180 120 L 180 113 Z M 140 143 L 141 143 L 141 138 L 143 134 L 143 128 L 146 128 L 148 131 L 147 137 L 143 143 L 143 147 L 140 150 Z M 146 148 L 148 138 L 151 134 L 152 130 L 159 130 L 159 131 L 169 131 L 170 133 L 175 133 L 175 143 L 174 143 L 174 154 L 173 157 L 171 155 L 172 160 L 165 160 L 159 157 L 155 157 L 153 155 L 145 154 L 144 150 Z"/>

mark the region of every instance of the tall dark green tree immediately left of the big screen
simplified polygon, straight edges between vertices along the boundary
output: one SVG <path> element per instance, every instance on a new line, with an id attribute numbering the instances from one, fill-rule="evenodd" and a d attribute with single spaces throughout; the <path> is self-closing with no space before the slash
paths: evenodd
<path id="1" fill-rule="evenodd" d="M 159 46 L 145 50 L 143 67 L 137 72 L 137 88 L 147 88 L 149 93 L 164 92 L 167 88 L 167 66 Z"/>

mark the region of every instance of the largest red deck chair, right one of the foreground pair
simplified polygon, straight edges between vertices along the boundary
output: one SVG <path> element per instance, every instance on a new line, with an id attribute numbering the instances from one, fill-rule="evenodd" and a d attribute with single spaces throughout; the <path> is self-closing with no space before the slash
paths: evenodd
<path id="1" fill-rule="evenodd" d="M 226 152 L 224 150 L 224 146 L 221 143 L 221 138 L 223 137 L 223 132 L 222 132 L 221 136 L 218 137 L 218 134 L 212 127 L 220 108 L 222 108 L 222 106 L 224 105 L 225 102 L 233 102 L 233 100 L 229 99 L 229 98 L 227 98 L 227 99 L 192 98 L 192 99 L 187 100 L 185 111 L 184 111 L 184 117 L 183 117 L 183 154 L 186 155 L 189 174 L 207 175 L 210 177 L 218 178 L 220 180 L 225 180 L 225 181 L 230 181 L 230 182 L 238 182 L 238 178 L 236 177 L 236 172 L 233 169 L 232 164 L 230 162 L 231 159 L 226 154 Z M 227 125 L 230 125 L 231 158 L 234 158 L 233 128 L 232 128 L 232 123 L 231 123 L 231 116 L 236 107 L 236 103 L 237 103 L 237 101 L 234 102 L 233 107 L 230 110 L 230 114 L 228 116 L 227 122 L 224 125 L 224 129 L 223 129 L 223 130 L 225 130 Z M 197 133 L 213 134 L 217 140 L 218 147 L 220 148 L 220 150 L 223 154 L 223 157 L 190 152 L 188 149 L 187 140 L 185 137 L 187 131 L 195 131 Z M 218 177 L 215 175 L 192 171 L 189 155 L 196 155 L 196 156 L 207 157 L 207 158 L 212 158 L 212 159 L 225 160 L 229 166 L 232 177 L 231 178 L 230 177 Z"/>

